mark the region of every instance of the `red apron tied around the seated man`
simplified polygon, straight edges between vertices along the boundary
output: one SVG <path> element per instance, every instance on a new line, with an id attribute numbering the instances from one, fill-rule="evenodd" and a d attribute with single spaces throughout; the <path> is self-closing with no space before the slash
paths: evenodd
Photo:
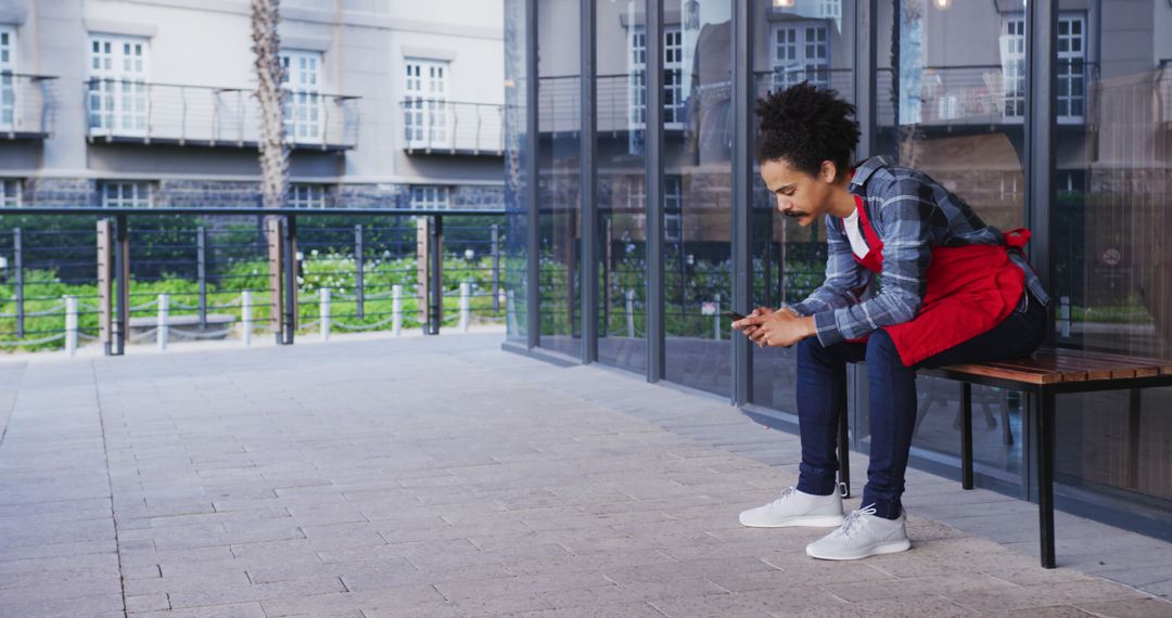
<path id="1" fill-rule="evenodd" d="M 854 205 L 868 246 L 867 254 L 854 260 L 880 274 L 883 241 L 871 227 L 863 198 L 856 195 Z M 1026 289 L 1026 274 L 1009 260 L 1008 248 L 1026 246 L 1029 236 L 1028 229 L 1017 228 L 1004 234 L 1006 245 L 932 249 L 920 310 L 909 322 L 884 327 L 905 366 L 993 330 L 1014 311 Z"/>

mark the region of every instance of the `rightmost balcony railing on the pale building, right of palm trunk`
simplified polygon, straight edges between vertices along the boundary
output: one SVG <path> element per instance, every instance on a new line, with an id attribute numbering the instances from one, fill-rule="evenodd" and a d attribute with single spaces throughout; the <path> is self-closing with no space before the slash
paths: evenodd
<path id="1" fill-rule="evenodd" d="M 408 153 L 504 154 L 504 105 L 407 98 L 398 107 Z"/>

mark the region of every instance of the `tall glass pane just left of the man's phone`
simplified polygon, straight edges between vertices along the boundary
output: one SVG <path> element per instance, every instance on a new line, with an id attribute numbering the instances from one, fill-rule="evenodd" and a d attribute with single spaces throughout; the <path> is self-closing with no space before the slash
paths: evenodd
<path id="1" fill-rule="evenodd" d="M 666 13 L 663 303 L 667 379 L 728 396 L 731 345 L 732 4 L 689 0 Z M 677 21 L 676 21 L 677 20 Z M 676 44 L 676 42 L 679 44 Z M 676 64 L 677 63 L 677 64 Z M 679 66 L 679 81 L 672 77 Z M 669 115 L 667 107 L 677 109 Z M 672 124 L 666 124 L 672 129 Z M 665 234 L 666 236 L 666 234 Z"/>

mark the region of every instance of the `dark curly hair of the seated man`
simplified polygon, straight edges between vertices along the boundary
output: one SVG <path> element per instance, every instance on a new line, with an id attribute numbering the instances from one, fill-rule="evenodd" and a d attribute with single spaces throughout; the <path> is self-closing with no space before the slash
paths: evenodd
<path id="1" fill-rule="evenodd" d="M 784 159 L 811 176 L 824 160 L 846 170 L 859 143 L 859 123 L 853 115 L 854 105 L 838 98 L 838 92 L 810 82 L 770 92 L 757 99 L 757 162 Z"/>

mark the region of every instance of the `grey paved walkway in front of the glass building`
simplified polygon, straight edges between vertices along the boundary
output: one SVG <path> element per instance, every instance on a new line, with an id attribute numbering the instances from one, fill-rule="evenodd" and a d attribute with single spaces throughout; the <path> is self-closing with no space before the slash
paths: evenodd
<path id="1" fill-rule="evenodd" d="M 1042 570 L 922 473 L 912 551 L 810 559 L 736 521 L 793 435 L 499 341 L 0 360 L 0 616 L 1172 616 L 1167 543 L 1059 516 Z"/>

